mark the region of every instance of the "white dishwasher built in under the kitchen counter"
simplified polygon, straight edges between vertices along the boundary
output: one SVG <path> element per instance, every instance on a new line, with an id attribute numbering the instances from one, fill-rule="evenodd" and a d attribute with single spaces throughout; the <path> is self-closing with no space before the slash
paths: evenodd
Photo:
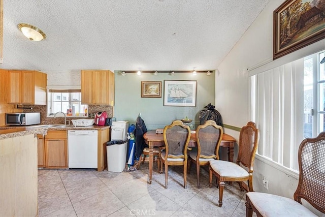
<path id="1" fill-rule="evenodd" d="M 97 168 L 98 131 L 68 130 L 69 168 Z"/>

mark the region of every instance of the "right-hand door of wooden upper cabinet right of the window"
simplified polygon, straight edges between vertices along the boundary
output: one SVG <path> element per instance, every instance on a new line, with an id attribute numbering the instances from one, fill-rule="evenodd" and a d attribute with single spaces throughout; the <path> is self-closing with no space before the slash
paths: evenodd
<path id="1" fill-rule="evenodd" d="M 109 104 L 108 101 L 108 71 L 95 71 L 95 104 Z"/>

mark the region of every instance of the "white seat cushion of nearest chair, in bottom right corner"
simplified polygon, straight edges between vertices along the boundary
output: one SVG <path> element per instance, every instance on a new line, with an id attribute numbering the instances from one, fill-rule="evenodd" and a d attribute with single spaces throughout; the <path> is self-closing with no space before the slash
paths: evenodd
<path id="1" fill-rule="evenodd" d="M 248 192 L 246 195 L 263 216 L 317 216 L 290 198 L 259 192 Z"/>

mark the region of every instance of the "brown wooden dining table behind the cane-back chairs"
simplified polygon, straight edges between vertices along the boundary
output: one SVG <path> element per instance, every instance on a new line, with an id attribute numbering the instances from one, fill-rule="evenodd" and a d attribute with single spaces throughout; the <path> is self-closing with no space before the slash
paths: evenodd
<path id="1" fill-rule="evenodd" d="M 151 184 L 152 179 L 152 166 L 153 166 L 153 147 L 164 146 L 164 135 L 162 133 L 156 133 L 155 130 L 150 130 L 143 135 L 146 144 L 149 146 L 149 184 Z M 228 148 L 228 161 L 234 162 L 234 147 L 235 147 L 235 138 L 223 134 L 222 140 L 220 143 L 221 147 Z M 188 143 L 188 147 L 196 147 L 197 145 L 197 136 L 196 133 L 191 133 L 191 138 Z M 159 169 L 159 168 L 158 168 Z"/>

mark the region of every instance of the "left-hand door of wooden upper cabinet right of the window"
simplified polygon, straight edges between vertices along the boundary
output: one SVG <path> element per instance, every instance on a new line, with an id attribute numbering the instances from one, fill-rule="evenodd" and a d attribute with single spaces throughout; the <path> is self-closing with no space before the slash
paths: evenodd
<path id="1" fill-rule="evenodd" d="M 94 71 L 81 71 L 81 103 L 94 104 Z"/>

